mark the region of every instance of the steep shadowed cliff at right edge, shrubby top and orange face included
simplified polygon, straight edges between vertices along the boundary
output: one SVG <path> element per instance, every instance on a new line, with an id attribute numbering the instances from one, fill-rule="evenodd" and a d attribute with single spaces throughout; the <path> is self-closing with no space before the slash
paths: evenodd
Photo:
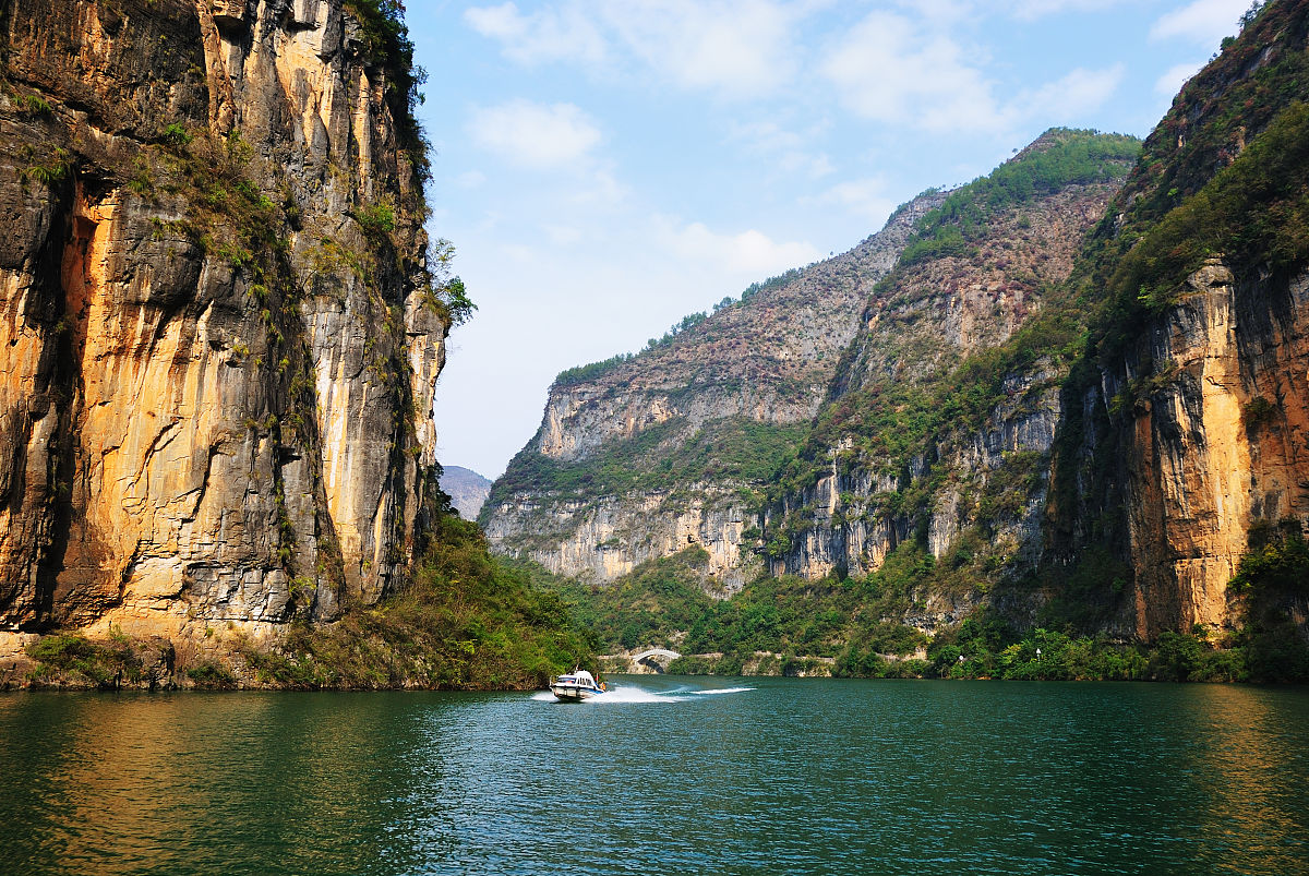
<path id="1" fill-rule="evenodd" d="M 1253 16 L 1145 141 L 1089 253 L 1110 301 L 1063 394 L 1046 532 L 1059 567 L 1124 566 L 1098 594 L 1123 635 L 1238 626 L 1228 581 L 1251 534 L 1309 522 L 1309 244 L 1289 207 L 1306 46 L 1309 4 Z M 1195 255 L 1158 267 L 1175 253 Z"/>

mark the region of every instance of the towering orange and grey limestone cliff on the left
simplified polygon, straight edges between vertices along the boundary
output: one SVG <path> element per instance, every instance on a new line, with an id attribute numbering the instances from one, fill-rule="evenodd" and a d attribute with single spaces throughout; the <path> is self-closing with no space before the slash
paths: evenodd
<path id="1" fill-rule="evenodd" d="M 7 629 L 259 632 L 406 574 L 449 322 L 368 25 L 4 4 Z"/>

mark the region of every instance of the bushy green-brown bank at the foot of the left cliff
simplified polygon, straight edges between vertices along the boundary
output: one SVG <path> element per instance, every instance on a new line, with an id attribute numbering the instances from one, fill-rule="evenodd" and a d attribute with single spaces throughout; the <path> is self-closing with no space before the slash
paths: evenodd
<path id="1" fill-rule="evenodd" d="M 537 690 L 594 665 L 594 640 L 560 598 L 491 557 L 476 524 L 444 515 L 407 588 L 278 640 L 236 625 L 202 642 L 52 631 L 0 661 L 0 690 Z"/>

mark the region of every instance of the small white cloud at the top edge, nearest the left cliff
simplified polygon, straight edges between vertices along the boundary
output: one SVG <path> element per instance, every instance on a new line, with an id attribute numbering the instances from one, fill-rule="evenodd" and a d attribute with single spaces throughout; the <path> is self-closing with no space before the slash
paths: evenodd
<path id="1" fill-rule="evenodd" d="M 465 10 L 463 21 L 483 37 L 500 41 L 505 58 L 520 64 L 558 60 L 600 64 L 609 54 L 605 37 L 575 4 L 531 14 L 518 12 L 513 3 L 478 7 Z"/>

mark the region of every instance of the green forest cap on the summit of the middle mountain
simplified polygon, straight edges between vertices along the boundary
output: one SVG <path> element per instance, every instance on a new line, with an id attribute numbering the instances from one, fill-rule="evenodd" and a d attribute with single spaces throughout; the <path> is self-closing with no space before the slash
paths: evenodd
<path id="1" fill-rule="evenodd" d="M 1056 128 L 1042 139 L 1043 144 L 958 189 L 923 216 L 899 263 L 963 255 L 992 216 L 1067 186 L 1106 182 L 1140 152 L 1140 140 L 1118 134 Z"/>

